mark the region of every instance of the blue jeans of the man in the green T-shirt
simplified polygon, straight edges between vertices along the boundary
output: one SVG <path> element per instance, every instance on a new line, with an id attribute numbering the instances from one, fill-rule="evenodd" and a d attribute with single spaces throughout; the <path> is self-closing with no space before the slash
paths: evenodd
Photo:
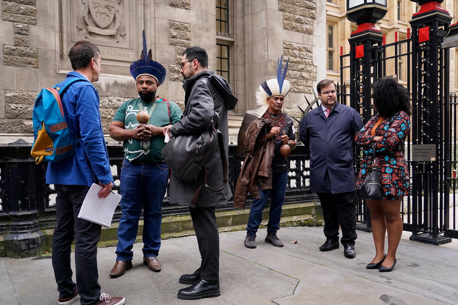
<path id="1" fill-rule="evenodd" d="M 131 261 L 143 208 L 143 256 L 157 257 L 161 247 L 162 200 L 169 178 L 165 162 L 131 163 L 124 159 L 120 193 L 122 215 L 118 227 L 117 261 Z"/>

